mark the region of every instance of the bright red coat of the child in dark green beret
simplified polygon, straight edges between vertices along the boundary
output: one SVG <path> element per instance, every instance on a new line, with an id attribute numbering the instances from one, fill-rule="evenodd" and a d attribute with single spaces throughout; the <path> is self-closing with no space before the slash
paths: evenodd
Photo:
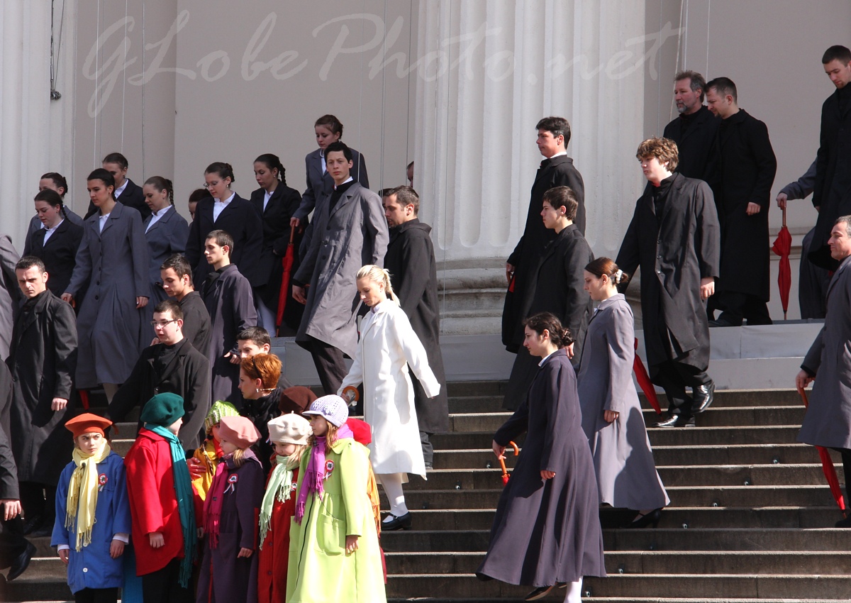
<path id="1" fill-rule="evenodd" d="M 136 574 L 144 576 L 183 558 L 183 530 L 174 494 L 171 447 L 163 436 L 142 428 L 124 457 L 133 517 Z M 151 548 L 148 534 L 163 532 L 165 544 Z"/>

